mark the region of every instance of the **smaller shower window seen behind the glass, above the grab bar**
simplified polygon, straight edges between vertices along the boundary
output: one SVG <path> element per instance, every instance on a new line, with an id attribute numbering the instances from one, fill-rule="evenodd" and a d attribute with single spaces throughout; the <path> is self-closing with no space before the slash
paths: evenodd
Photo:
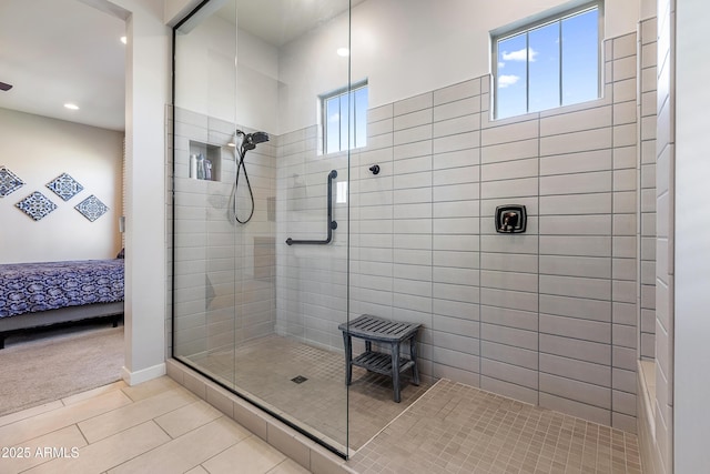
<path id="1" fill-rule="evenodd" d="M 326 154 L 367 144 L 367 82 L 322 95 L 321 101 Z"/>

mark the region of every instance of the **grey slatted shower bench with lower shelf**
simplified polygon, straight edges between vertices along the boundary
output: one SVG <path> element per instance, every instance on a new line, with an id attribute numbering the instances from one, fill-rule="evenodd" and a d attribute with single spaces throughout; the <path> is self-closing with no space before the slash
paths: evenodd
<path id="1" fill-rule="evenodd" d="M 338 325 L 343 331 L 345 344 L 345 384 L 353 381 L 353 365 L 367 369 L 392 377 L 395 402 L 399 403 L 399 374 L 412 369 L 412 379 L 415 385 L 419 385 L 419 371 L 417 370 L 417 341 L 416 335 L 420 324 L 399 323 L 382 317 L 363 314 L 355 320 Z M 365 352 L 353 359 L 353 337 L 365 340 Z M 373 351 L 373 342 L 389 344 L 389 354 Z M 409 359 L 399 355 L 399 346 L 403 342 L 409 343 Z"/>

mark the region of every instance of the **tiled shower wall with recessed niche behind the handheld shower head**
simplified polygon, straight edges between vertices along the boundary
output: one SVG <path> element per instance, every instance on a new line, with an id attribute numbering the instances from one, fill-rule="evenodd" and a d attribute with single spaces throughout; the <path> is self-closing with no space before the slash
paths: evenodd
<path id="1" fill-rule="evenodd" d="M 246 154 L 256 209 L 248 224 L 242 225 L 230 215 L 236 160 L 227 142 L 233 133 L 229 122 L 175 108 L 172 271 L 176 355 L 196 357 L 273 333 L 275 214 L 270 202 L 275 194 L 276 148 L 272 142 L 262 143 Z M 190 154 L 200 151 L 212 159 L 215 181 L 190 178 Z M 169 165 L 172 173 L 172 163 Z M 237 199 L 242 220 L 250 211 L 243 177 Z"/>

